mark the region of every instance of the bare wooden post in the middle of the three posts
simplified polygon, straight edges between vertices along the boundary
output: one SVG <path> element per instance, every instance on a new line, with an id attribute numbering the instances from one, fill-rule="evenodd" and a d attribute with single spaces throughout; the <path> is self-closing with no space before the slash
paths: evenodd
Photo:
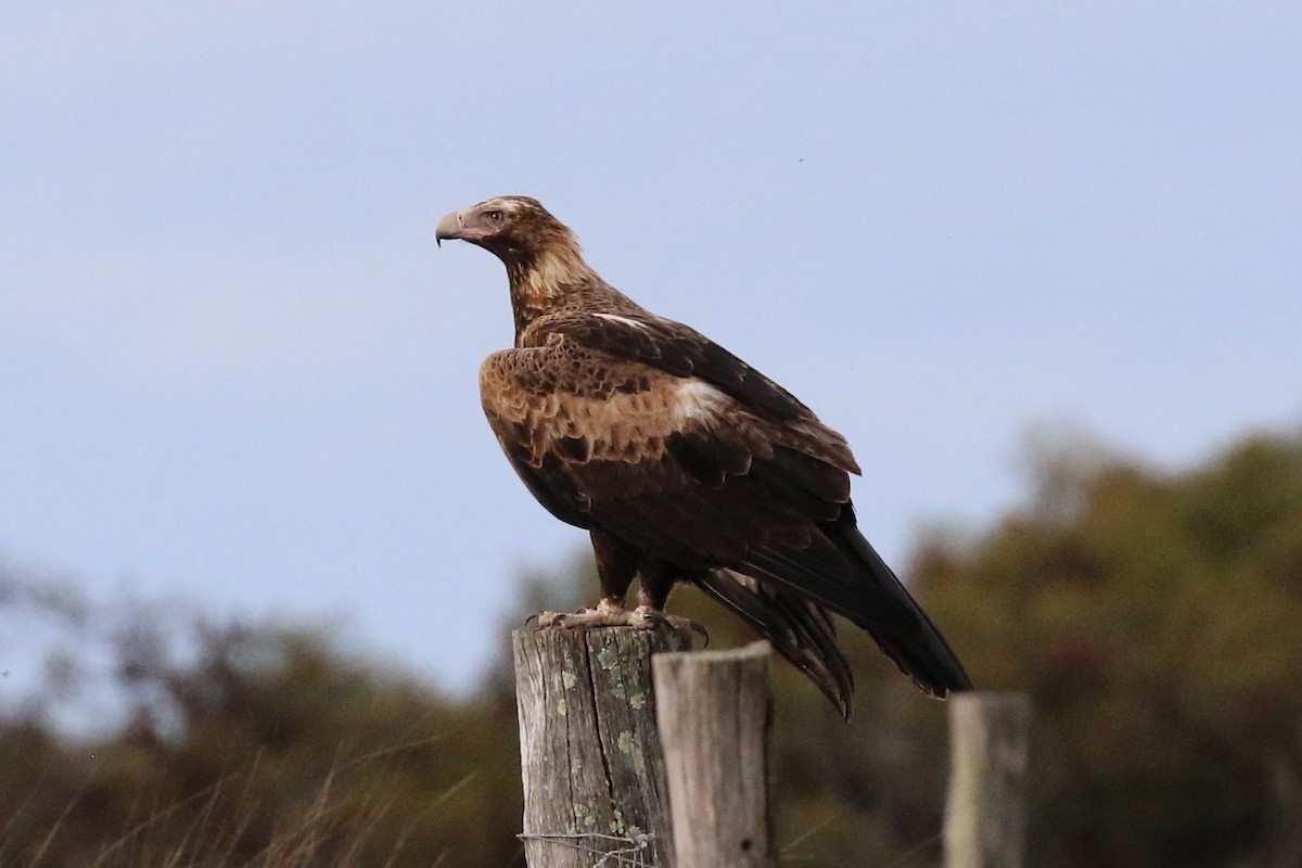
<path id="1" fill-rule="evenodd" d="M 678 868 L 772 864 L 768 643 L 652 661 Z"/>

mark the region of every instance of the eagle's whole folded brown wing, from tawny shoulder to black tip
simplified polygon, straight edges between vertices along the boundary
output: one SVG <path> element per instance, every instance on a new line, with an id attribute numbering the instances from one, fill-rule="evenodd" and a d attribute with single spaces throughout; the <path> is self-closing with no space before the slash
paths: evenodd
<path id="1" fill-rule="evenodd" d="M 480 390 L 517 471 L 561 519 L 689 573 L 783 586 L 868 630 L 924 690 L 965 686 L 854 526 L 845 440 L 727 350 L 669 320 L 564 314 L 488 357 Z"/>

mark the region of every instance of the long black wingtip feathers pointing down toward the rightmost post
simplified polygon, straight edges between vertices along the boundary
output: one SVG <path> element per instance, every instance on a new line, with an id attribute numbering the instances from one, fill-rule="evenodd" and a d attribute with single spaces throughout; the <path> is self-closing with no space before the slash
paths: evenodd
<path id="1" fill-rule="evenodd" d="M 844 614 L 867 630 L 900 670 L 928 695 L 944 699 L 950 692 L 971 690 L 971 679 L 958 662 L 958 655 L 859 534 L 853 513 L 824 526 L 824 534 L 854 561 L 859 582 L 867 584 L 865 601 L 868 605 Z"/>

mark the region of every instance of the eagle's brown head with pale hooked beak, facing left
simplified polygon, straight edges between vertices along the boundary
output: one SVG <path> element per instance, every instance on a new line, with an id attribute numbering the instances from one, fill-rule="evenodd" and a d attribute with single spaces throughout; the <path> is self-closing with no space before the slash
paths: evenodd
<path id="1" fill-rule="evenodd" d="M 536 260 L 557 247 L 578 250 L 574 234 L 538 199 L 495 197 L 453 211 L 439 221 L 434 238 L 460 238 L 478 245 L 512 264 Z"/>

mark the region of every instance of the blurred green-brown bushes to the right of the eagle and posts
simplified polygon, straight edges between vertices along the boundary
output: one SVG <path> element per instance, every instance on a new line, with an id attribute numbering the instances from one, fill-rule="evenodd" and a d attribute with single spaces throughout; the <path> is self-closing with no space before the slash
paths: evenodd
<path id="1" fill-rule="evenodd" d="M 1297 864 L 1302 440 L 1185 474 L 1069 462 L 914 569 L 980 686 L 1034 699 L 1032 861 Z"/>

